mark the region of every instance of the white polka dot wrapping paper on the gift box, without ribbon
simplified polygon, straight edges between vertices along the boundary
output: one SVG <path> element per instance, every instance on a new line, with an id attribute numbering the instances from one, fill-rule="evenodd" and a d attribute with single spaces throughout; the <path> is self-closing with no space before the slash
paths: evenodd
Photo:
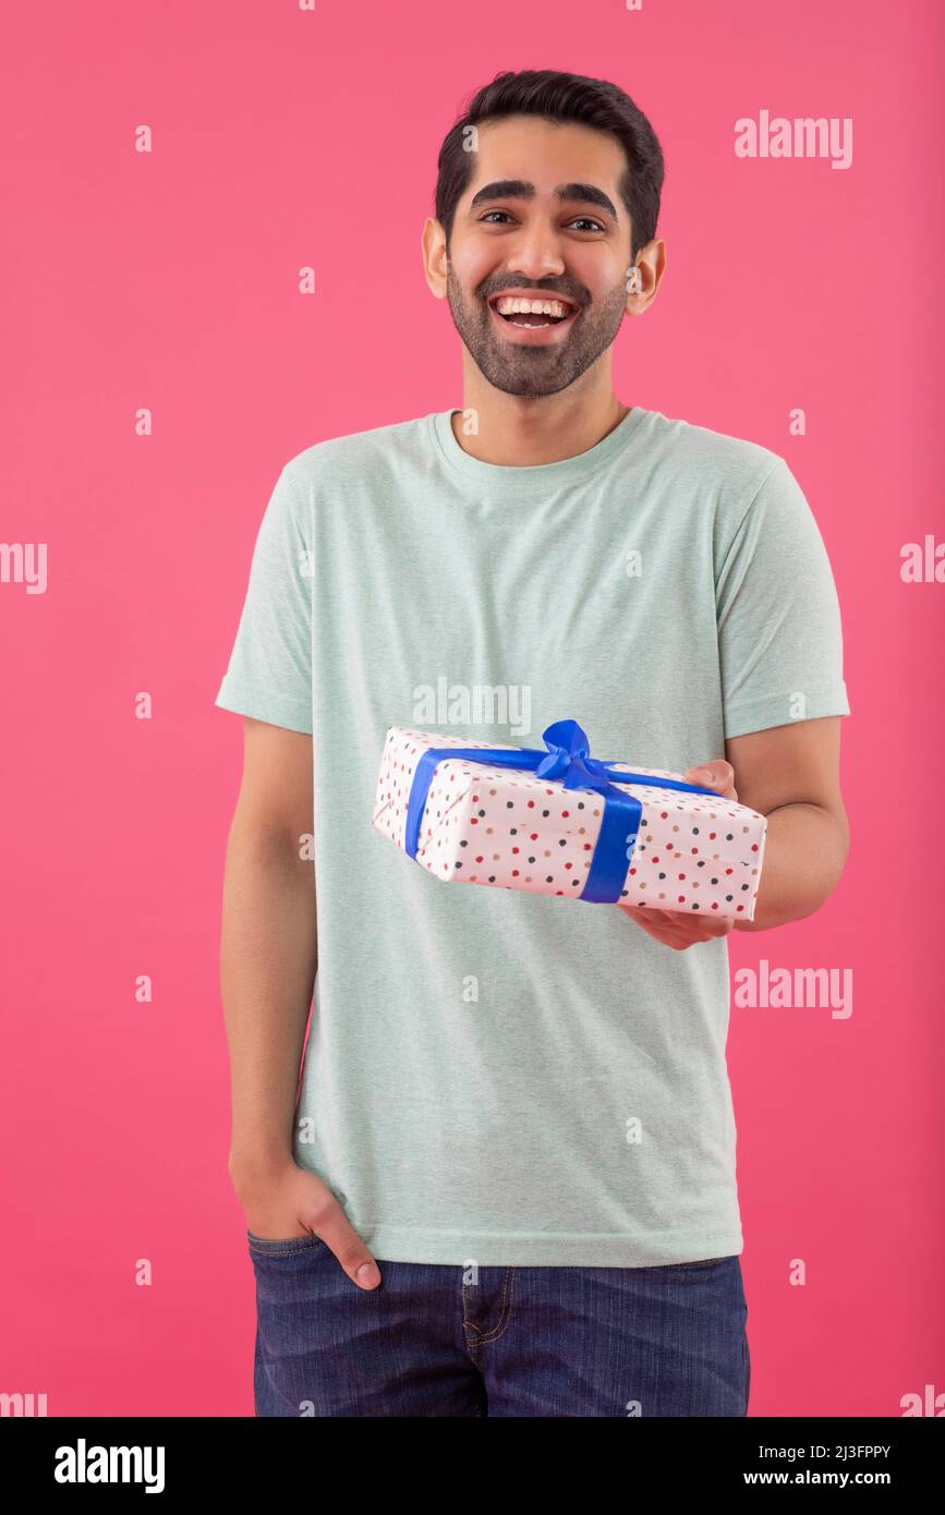
<path id="1" fill-rule="evenodd" d="M 522 744 L 530 745 L 530 744 Z M 404 848 L 407 804 L 416 764 L 432 747 L 501 748 L 442 732 L 391 726 L 377 777 L 371 824 Z M 612 765 L 654 779 L 683 779 L 669 768 Z M 612 782 L 619 779 L 612 774 Z M 624 788 L 624 785 L 621 785 Z M 641 801 L 639 832 L 627 859 L 621 904 L 700 911 L 753 920 L 766 820 L 745 804 L 648 783 L 627 783 Z M 444 883 L 477 883 L 580 900 L 601 829 L 604 795 L 566 789 L 526 768 L 491 767 L 468 758 L 436 764 L 419 826 L 415 859 Z"/>

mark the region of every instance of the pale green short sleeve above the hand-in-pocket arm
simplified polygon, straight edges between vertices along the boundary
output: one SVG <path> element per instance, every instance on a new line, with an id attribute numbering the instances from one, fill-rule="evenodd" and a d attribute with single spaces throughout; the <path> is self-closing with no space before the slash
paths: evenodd
<path id="1" fill-rule="evenodd" d="M 250 582 L 215 704 L 312 732 L 312 544 L 306 491 L 286 465 L 256 536 Z"/>

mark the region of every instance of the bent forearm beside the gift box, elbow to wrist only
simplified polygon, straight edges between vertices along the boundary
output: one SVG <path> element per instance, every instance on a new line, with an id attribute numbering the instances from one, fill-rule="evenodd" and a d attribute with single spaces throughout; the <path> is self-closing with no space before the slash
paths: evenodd
<path id="1" fill-rule="evenodd" d="M 847 862 L 845 814 L 819 804 L 781 804 L 768 814 L 768 836 L 754 920 L 734 930 L 765 932 L 813 915 L 836 888 Z"/>

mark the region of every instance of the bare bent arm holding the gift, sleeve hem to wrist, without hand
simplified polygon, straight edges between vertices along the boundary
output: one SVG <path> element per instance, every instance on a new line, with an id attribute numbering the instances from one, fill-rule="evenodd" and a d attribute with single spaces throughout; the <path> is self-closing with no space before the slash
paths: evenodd
<path id="1" fill-rule="evenodd" d="M 772 726 L 725 742 L 739 804 L 768 817 L 754 920 L 734 930 L 765 932 L 819 911 L 833 894 L 850 848 L 841 795 L 841 717 Z"/>

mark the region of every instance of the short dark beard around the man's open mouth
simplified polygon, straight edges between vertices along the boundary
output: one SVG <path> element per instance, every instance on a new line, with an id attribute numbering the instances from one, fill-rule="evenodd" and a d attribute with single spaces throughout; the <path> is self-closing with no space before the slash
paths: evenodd
<path id="1" fill-rule="evenodd" d="M 547 291 L 547 297 L 554 298 L 554 291 Z M 627 289 L 621 282 L 594 305 L 579 301 L 580 314 L 568 336 L 548 347 L 506 342 L 494 327 L 488 294 L 466 300 L 451 264 L 447 264 L 447 300 L 453 324 L 483 377 L 494 389 L 532 400 L 566 389 L 606 353 L 621 329 Z"/>

